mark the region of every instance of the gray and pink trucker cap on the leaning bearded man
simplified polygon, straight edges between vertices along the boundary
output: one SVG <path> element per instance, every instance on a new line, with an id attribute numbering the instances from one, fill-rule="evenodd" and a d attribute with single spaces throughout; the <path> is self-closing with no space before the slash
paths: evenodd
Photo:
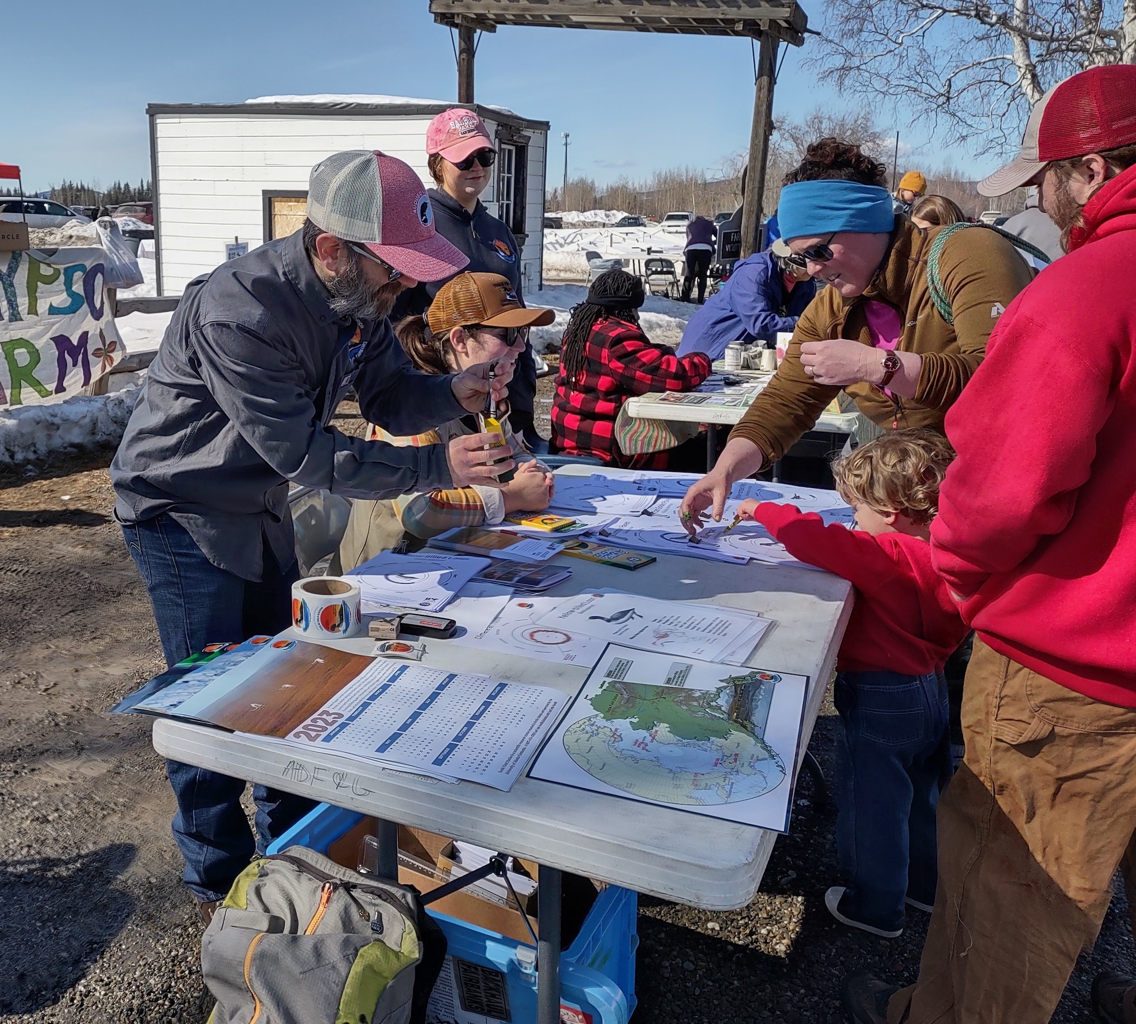
<path id="1" fill-rule="evenodd" d="M 416 281 L 452 277 L 469 263 L 434 230 L 421 178 L 377 150 L 332 153 L 312 167 L 308 219 L 344 241 L 361 242 Z"/>

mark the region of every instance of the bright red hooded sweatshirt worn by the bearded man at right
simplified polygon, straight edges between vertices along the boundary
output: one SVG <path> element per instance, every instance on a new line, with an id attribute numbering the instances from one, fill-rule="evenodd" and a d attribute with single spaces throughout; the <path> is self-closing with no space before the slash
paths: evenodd
<path id="1" fill-rule="evenodd" d="M 1084 219 L 946 416 L 932 549 L 994 650 L 1136 707 L 1136 167 Z"/>

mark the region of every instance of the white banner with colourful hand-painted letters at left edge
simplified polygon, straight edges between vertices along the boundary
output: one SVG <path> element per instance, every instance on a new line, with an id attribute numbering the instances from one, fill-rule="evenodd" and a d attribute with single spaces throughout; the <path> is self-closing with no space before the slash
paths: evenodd
<path id="1" fill-rule="evenodd" d="M 62 401 L 120 363 L 97 247 L 0 252 L 0 408 Z"/>

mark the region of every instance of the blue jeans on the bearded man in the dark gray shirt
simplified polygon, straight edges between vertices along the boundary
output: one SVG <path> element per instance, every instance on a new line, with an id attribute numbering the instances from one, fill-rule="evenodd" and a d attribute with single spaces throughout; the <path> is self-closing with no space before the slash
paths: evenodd
<path id="1" fill-rule="evenodd" d="M 265 544 L 260 583 L 217 568 L 168 515 L 123 524 L 131 557 L 145 580 L 158 635 L 168 665 L 207 643 L 278 633 L 292 624 L 292 583 L 299 569 L 282 572 Z M 247 783 L 218 772 L 166 761 L 177 798 L 174 840 L 185 858 L 183 879 L 202 901 L 224 899 L 254 851 L 306 815 L 315 802 L 292 793 L 253 786 L 257 840 L 241 807 Z"/>

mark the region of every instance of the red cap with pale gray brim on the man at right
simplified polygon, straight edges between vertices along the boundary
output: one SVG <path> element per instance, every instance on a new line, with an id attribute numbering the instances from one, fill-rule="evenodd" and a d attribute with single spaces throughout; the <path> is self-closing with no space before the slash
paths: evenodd
<path id="1" fill-rule="evenodd" d="M 1026 122 L 1021 149 L 978 183 L 983 195 L 1005 195 L 1052 160 L 1068 160 L 1136 143 L 1136 66 L 1093 67 L 1043 95 Z"/>

